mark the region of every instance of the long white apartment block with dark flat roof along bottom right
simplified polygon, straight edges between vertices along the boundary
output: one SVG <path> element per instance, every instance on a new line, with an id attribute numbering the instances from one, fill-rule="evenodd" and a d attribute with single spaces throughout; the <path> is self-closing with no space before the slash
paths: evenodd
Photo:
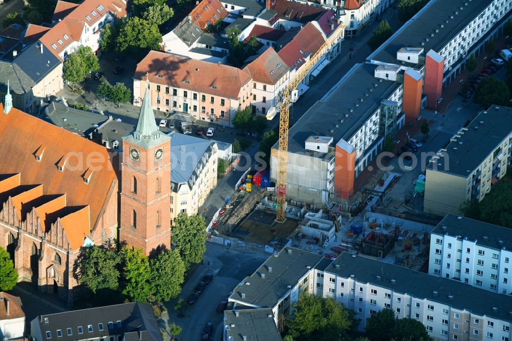
<path id="1" fill-rule="evenodd" d="M 512 339 L 508 295 L 347 252 L 324 271 L 315 269 L 314 279 L 316 294 L 355 311 L 361 331 L 371 314 L 389 308 L 417 319 L 436 341 Z"/>

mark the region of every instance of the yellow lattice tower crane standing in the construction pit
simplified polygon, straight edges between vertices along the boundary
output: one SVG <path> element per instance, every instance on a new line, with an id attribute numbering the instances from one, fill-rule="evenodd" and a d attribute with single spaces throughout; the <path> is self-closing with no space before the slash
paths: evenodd
<path id="1" fill-rule="evenodd" d="M 345 30 L 343 23 L 332 32 L 331 36 L 324 44 L 309 58 L 302 69 L 290 80 L 288 86 L 281 94 L 279 103 L 272 106 L 266 117 L 271 120 L 279 113 L 279 149 L 278 149 L 278 181 L 276 184 L 276 193 L 278 194 L 278 207 L 276 211 L 275 221 L 283 223 L 285 221 L 285 204 L 286 204 L 286 168 L 288 158 L 288 130 L 289 130 L 289 113 L 290 106 L 296 101 L 298 92 L 297 86 L 308 73 L 313 69 L 316 63 L 329 51 L 329 49 L 341 39 L 339 31 Z M 338 37 L 339 36 L 339 37 Z"/>

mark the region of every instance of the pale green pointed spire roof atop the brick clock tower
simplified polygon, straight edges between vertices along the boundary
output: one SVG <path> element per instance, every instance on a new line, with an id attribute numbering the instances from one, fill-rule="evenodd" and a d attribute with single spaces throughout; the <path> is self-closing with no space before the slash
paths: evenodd
<path id="1" fill-rule="evenodd" d="M 160 132 L 155 121 L 155 113 L 151 105 L 150 91 L 146 88 L 142 107 L 140 108 L 139 119 L 135 131 L 124 137 L 126 141 L 145 149 L 154 147 L 169 140 L 169 137 Z"/>

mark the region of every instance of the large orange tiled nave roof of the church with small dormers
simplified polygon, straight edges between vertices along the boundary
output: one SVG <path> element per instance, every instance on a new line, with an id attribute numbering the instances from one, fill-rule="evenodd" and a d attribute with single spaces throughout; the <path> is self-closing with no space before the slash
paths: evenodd
<path id="1" fill-rule="evenodd" d="M 68 206 L 89 205 L 94 229 L 109 199 L 110 188 L 117 183 L 106 148 L 17 109 L 11 109 L 7 115 L 3 112 L 4 106 L 0 104 L 0 159 L 4 160 L 0 162 L 0 174 L 19 173 L 20 185 L 41 184 L 43 195 L 66 194 Z M 45 150 L 38 162 L 35 154 L 41 145 Z M 68 162 L 59 172 L 56 165 L 66 155 Z M 91 167 L 95 174 L 86 184 L 82 175 Z M 20 202 L 29 201 L 25 196 L 28 194 L 20 197 Z M 68 239 L 71 234 L 68 230 Z"/>

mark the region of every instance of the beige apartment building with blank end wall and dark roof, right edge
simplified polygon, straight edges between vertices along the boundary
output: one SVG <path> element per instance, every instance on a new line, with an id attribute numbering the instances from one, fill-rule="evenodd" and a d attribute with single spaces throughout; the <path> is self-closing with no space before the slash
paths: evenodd
<path id="1" fill-rule="evenodd" d="M 491 106 L 426 167 L 424 211 L 458 214 L 465 200 L 481 201 L 507 172 L 512 161 L 512 108 Z"/>

